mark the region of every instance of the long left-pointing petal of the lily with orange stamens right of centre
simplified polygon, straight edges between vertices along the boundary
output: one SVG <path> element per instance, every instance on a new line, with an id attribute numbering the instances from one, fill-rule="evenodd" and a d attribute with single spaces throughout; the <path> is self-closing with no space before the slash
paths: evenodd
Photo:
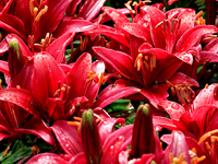
<path id="1" fill-rule="evenodd" d="M 110 66 L 112 66 L 120 74 L 130 80 L 143 83 L 138 72 L 134 68 L 134 61 L 129 55 L 104 47 L 94 47 L 93 49 L 100 58 L 110 63 Z"/>

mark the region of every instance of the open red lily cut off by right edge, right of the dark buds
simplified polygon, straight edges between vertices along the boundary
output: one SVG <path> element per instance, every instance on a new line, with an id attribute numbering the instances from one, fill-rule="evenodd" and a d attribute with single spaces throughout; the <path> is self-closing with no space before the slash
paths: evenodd
<path id="1" fill-rule="evenodd" d="M 165 127 L 169 130 L 181 130 L 185 136 L 199 140 L 204 133 L 216 129 L 217 116 L 217 84 L 202 90 L 192 104 L 181 106 L 178 103 L 166 101 L 160 106 L 170 115 L 170 118 L 154 116 L 157 130 Z M 159 129 L 160 128 L 160 129 Z"/>

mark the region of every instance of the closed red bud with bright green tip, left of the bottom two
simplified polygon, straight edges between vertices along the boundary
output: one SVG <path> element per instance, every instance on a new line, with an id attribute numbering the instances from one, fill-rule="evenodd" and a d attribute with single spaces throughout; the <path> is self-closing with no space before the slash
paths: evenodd
<path id="1" fill-rule="evenodd" d="M 102 155 L 102 143 L 92 109 L 82 116 L 82 141 L 88 164 L 99 164 Z"/>

